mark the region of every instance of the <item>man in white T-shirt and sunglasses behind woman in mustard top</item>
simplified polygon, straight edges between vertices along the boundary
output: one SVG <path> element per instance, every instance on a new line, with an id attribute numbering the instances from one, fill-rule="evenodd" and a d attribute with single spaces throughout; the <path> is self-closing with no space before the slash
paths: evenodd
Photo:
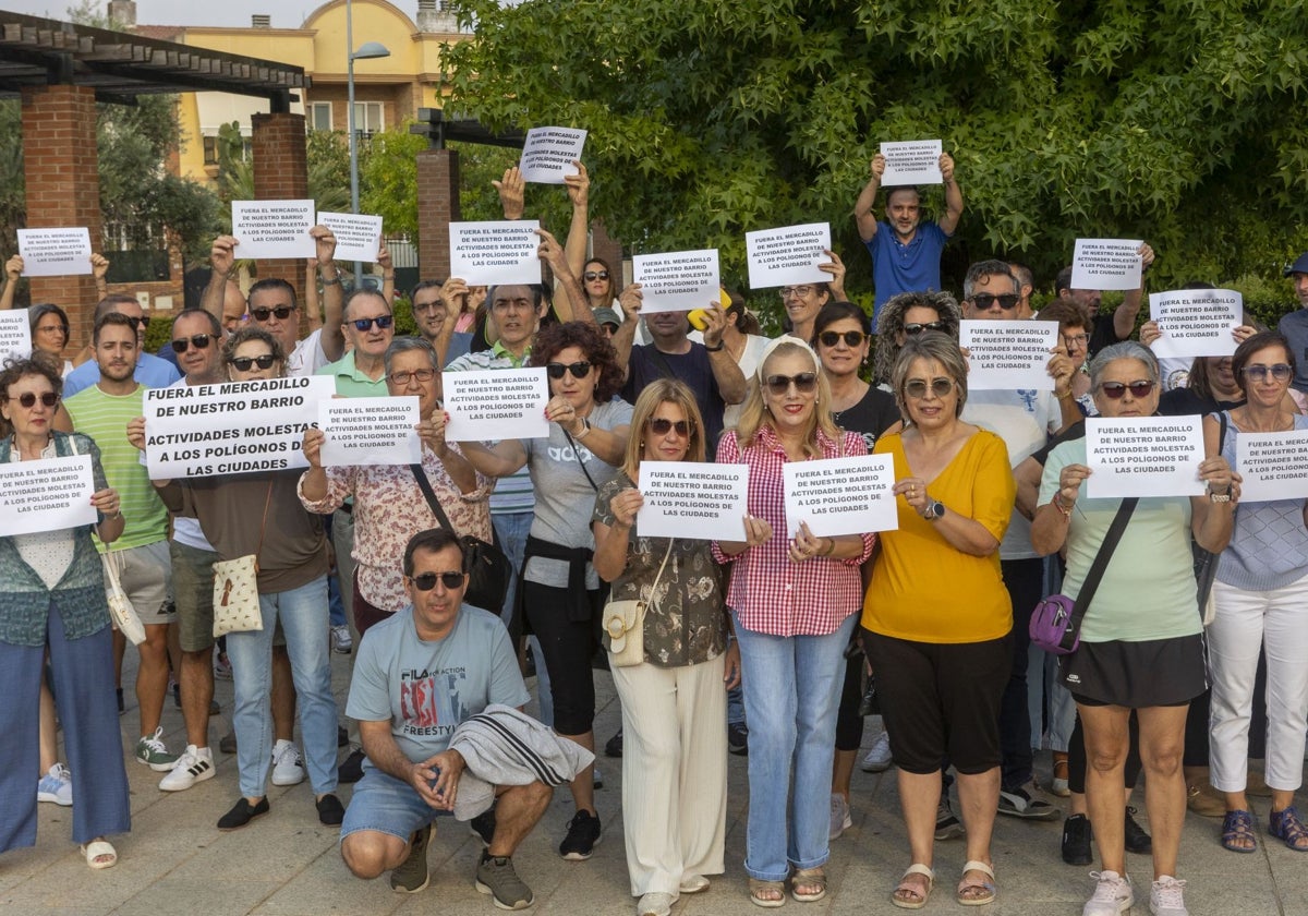
<path id="1" fill-rule="evenodd" d="M 982 321 L 1022 321 L 1022 285 L 1002 260 L 982 260 L 963 280 L 963 317 Z M 1053 391 L 969 390 L 961 419 L 988 429 L 1008 448 L 1016 467 L 1049 437 L 1080 419 L 1071 393 L 1073 364 L 1059 345 L 1049 360 Z M 1031 718 L 1027 713 L 1027 625 L 1044 597 L 1044 560 L 1031 546 L 1031 517 L 1036 493 L 1019 489 L 1012 521 L 999 543 L 1003 582 L 1012 599 L 1012 671 L 999 709 L 1001 767 L 999 814 L 1045 820 L 1058 813 L 1027 790 L 1032 781 Z"/>

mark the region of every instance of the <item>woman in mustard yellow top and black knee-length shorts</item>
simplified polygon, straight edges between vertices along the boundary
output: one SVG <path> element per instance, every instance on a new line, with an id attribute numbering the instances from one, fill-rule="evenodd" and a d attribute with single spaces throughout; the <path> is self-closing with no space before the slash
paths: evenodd
<path id="1" fill-rule="evenodd" d="M 1012 667 L 1012 605 L 999 540 L 1016 487 L 1003 440 L 959 420 L 967 364 L 929 331 L 909 338 L 891 377 L 904 432 L 883 436 L 895 458 L 899 530 L 882 534 L 863 603 L 863 644 L 899 764 L 913 864 L 891 898 L 926 906 L 940 762 L 959 775 L 968 861 L 956 899 L 994 900 L 990 832 L 999 803 L 999 697 Z"/>

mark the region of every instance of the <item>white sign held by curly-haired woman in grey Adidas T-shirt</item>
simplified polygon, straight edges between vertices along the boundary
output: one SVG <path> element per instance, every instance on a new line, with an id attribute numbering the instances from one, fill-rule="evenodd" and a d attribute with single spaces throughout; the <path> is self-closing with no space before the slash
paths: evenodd
<path id="1" fill-rule="evenodd" d="M 485 369 L 441 374 L 451 442 L 545 438 L 549 382 L 545 368 Z"/>

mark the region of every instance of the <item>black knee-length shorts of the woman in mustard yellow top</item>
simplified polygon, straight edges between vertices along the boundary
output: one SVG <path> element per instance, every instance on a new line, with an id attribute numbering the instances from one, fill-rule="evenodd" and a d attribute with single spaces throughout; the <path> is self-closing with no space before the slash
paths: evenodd
<path id="1" fill-rule="evenodd" d="M 863 631 L 876 671 L 891 754 L 909 773 L 964 775 L 999 766 L 999 701 L 1012 673 L 1011 637 L 917 643 Z"/>

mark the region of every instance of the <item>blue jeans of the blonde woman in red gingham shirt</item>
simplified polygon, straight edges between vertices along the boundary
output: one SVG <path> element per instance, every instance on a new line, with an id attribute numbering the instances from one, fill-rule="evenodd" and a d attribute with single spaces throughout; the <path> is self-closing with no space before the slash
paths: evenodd
<path id="1" fill-rule="evenodd" d="M 825 636 L 768 636 L 736 622 L 748 688 L 749 824 L 744 870 L 783 881 L 831 856 L 831 767 L 842 654 L 858 614 Z M 787 796 L 790 798 L 787 807 Z"/>

